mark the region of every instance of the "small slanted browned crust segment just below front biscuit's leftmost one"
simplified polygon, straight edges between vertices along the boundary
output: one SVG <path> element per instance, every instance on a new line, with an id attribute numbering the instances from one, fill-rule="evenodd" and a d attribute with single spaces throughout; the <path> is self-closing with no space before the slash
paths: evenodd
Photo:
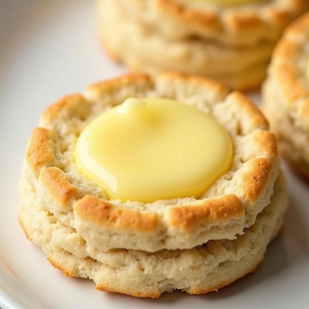
<path id="1" fill-rule="evenodd" d="M 77 191 L 77 188 L 67 180 L 64 171 L 57 167 L 42 169 L 40 180 L 49 193 L 62 205 L 67 204 Z"/>

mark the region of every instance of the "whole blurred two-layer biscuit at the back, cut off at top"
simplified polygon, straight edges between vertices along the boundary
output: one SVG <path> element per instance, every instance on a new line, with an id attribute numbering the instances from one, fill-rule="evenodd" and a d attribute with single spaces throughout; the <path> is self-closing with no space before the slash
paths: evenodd
<path id="1" fill-rule="evenodd" d="M 133 70 L 179 70 L 255 89 L 282 30 L 309 1 L 215 2 L 97 0 L 101 40 Z"/>

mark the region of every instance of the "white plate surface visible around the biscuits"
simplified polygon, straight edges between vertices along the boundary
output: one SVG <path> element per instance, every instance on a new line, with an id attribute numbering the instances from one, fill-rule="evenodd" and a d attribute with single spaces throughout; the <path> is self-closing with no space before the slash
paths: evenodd
<path id="1" fill-rule="evenodd" d="M 308 308 L 309 188 L 288 171 L 291 206 L 285 231 L 254 274 L 218 293 L 176 292 L 150 300 L 98 292 L 92 282 L 53 269 L 25 238 L 17 222 L 17 181 L 40 112 L 66 93 L 125 71 L 102 53 L 92 5 L 87 0 L 0 0 L 2 309 Z"/>

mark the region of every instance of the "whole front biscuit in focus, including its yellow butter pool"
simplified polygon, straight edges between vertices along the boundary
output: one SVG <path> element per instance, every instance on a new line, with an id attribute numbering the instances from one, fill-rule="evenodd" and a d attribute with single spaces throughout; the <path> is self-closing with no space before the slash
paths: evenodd
<path id="1" fill-rule="evenodd" d="M 252 272 L 287 206 L 261 112 L 176 72 L 121 76 L 51 104 L 19 187 L 20 223 L 53 266 L 137 297 L 206 293 Z"/>

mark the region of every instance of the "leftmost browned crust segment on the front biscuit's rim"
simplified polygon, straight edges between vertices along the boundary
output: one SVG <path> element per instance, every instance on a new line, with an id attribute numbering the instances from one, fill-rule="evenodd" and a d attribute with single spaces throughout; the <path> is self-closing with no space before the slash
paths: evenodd
<path id="1" fill-rule="evenodd" d="M 59 166 L 54 155 L 55 132 L 44 128 L 35 128 L 32 132 L 26 159 L 32 172 L 38 174 L 42 167 Z"/>

